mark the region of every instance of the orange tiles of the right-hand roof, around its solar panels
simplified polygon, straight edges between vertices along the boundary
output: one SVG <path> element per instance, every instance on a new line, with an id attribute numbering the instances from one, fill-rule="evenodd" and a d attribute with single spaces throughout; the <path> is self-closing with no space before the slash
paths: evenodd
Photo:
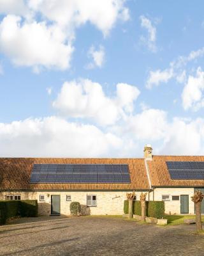
<path id="1" fill-rule="evenodd" d="M 204 180 L 172 180 L 166 166 L 166 161 L 204 162 L 204 156 L 153 156 L 152 161 L 147 161 L 152 186 L 204 186 Z"/>

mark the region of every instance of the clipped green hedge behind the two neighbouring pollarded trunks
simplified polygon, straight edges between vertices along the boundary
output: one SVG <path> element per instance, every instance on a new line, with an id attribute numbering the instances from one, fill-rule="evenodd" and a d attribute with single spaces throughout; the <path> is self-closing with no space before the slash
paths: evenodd
<path id="1" fill-rule="evenodd" d="M 146 201 L 146 216 L 154 218 L 162 218 L 164 216 L 164 202 L 163 201 Z M 124 201 L 124 213 L 129 212 L 129 202 Z M 141 216 L 141 202 L 133 201 L 133 214 Z"/>

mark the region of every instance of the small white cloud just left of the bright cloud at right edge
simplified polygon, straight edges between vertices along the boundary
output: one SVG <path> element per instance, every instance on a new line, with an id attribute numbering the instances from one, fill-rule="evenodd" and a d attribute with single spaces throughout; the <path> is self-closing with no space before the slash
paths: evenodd
<path id="1" fill-rule="evenodd" d="M 173 69 L 165 69 L 156 71 L 150 71 L 149 77 L 147 79 L 147 88 L 152 88 L 152 86 L 159 86 L 160 83 L 167 83 L 173 77 Z"/>

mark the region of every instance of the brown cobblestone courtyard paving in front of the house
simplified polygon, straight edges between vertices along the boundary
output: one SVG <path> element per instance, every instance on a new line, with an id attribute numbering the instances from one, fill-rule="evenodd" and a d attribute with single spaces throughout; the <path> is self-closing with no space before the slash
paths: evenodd
<path id="1" fill-rule="evenodd" d="M 203 256 L 204 236 L 194 230 L 122 218 L 23 218 L 0 227 L 0 255 Z"/>

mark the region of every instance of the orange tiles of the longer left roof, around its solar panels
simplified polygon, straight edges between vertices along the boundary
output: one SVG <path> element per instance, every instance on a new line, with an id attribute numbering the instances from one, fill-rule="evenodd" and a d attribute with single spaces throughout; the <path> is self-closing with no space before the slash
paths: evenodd
<path id="1" fill-rule="evenodd" d="M 33 164 L 128 164 L 129 184 L 30 184 Z M 143 159 L 0 158 L 0 190 L 133 190 L 149 189 Z"/>

